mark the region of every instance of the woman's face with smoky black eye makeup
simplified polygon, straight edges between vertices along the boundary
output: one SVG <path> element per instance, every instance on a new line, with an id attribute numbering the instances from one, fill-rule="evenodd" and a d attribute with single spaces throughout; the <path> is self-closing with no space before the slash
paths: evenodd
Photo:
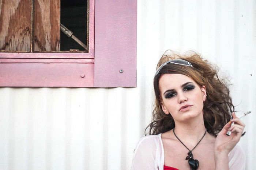
<path id="1" fill-rule="evenodd" d="M 203 113 L 206 88 L 182 74 L 163 74 L 159 79 L 162 109 L 176 121 L 185 121 Z"/>

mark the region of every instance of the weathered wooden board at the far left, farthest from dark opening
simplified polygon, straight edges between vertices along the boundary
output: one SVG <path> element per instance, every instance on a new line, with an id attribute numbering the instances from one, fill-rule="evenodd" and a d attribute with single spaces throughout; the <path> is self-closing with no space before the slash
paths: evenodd
<path id="1" fill-rule="evenodd" d="M 0 50 L 30 51 L 30 0 L 0 0 Z"/>

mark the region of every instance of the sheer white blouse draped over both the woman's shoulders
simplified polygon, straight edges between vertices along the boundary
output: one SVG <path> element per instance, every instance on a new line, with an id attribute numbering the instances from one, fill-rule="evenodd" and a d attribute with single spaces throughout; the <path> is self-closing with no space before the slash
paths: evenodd
<path id="1" fill-rule="evenodd" d="M 134 150 L 131 170 L 163 170 L 165 154 L 162 134 L 143 137 Z M 236 145 L 229 153 L 229 169 L 245 170 L 245 154 Z"/>

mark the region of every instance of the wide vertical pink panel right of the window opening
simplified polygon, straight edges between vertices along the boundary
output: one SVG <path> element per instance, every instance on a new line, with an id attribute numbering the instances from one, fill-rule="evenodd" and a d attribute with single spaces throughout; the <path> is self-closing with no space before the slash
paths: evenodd
<path id="1" fill-rule="evenodd" d="M 137 0 L 95 1 L 94 87 L 136 87 L 136 31 Z"/>

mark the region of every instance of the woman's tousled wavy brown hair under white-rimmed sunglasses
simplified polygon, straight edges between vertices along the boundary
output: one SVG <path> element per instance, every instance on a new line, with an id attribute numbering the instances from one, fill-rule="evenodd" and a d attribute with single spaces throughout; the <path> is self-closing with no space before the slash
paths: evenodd
<path id="1" fill-rule="evenodd" d="M 192 64 L 182 66 L 179 64 L 166 64 L 154 77 L 155 106 L 153 110 L 152 122 L 147 126 L 149 134 L 155 135 L 165 133 L 175 127 L 171 114 L 166 115 L 161 107 L 161 95 L 159 90 L 159 78 L 162 74 L 183 74 L 192 78 L 200 87 L 206 87 L 206 101 L 203 106 L 204 126 L 208 133 L 214 135 L 222 130 L 223 126 L 231 119 L 231 112 L 234 111 L 234 105 L 230 97 L 230 91 L 227 79 L 219 79 L 218 67 L 210 64 L 207 60 L 194 51 L 188 51 L 184 55 L 176 54 L 168 50 L 169 54 L 161 57 L 157 68 L 164 62 L 171 59 L 183 59 Z"/>

